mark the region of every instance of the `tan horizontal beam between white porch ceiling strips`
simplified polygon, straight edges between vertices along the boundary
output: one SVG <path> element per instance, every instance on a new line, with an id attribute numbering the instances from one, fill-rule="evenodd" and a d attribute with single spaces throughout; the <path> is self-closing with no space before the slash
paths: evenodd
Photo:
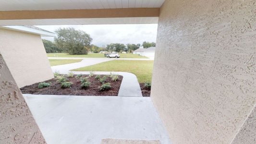
<path id="1" fill-rule="evenodd" d="M 0 11 L 0 20 L 158 17 L 159 8 Z"/>

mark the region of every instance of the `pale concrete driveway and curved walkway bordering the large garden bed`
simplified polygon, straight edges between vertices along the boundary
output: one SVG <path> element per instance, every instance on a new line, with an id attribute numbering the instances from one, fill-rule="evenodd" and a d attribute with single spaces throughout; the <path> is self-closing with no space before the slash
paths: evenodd
<path id="1" fill-rule="evenodd" d="M 67 74 L 72 69 L 94 65 L 111 59 L 82 60 L 81 62 L 52 66 L 52 72 L 58 71 Z M 89 74 L 89 72 L 74 72 L 75 74 Z M 142 96 L 140 85 L 136 75 L 130 72 L 113 72 L 123 76 L 118 96 Z M 95 72 L 95 74 L 110 74 L 110 72 Z"/>

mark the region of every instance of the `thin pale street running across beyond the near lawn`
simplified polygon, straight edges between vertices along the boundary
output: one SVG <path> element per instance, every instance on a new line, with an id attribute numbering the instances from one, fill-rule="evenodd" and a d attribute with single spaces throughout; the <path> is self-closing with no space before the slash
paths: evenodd
<path id="1" fill-rule="evenodd" d="M 148 59 L 138 59 L 138 58 L 73 58 L 73 57 L 48 57 L 48 59 L 56 59 L 56 60 L 77 60 L 77 59 L 83 59 L 83 60 L 154 60 L 154 58 L 148 58 Z"/>

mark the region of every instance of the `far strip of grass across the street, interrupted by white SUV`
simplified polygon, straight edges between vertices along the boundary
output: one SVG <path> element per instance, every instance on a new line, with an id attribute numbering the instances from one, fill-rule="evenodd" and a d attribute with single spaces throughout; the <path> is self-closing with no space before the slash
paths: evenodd
<path id="1" fill-rule="evenodd" d="M 139 54 L 120 53 L 120 58 L 139 58 L 147 59 L 147 57 L 139 56 Z M 48 57 L 74 57 L 74 58 L 106 58 L 103 53 L 88 53 L 87 55 L 70 55 L 68 53 L 48 53 Z"/>

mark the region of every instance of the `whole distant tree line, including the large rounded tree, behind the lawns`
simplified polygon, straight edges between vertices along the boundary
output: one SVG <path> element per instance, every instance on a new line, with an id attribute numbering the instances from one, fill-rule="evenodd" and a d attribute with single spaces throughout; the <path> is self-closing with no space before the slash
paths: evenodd
<path id="1" fill-rule="evenodd" d="M 106 48 L 92 45 L 92 38 L 89 34 L 74 28 L 59 28 L 55 31 L 57 37 L 54 42 L 43 39 L 43 44 L 47 53 L 66 52 L 71 55 L 88 54 L 88 51 L 98 53 L 100 51 L 133 52 L 141 47 L 141 44 L 120 44 L 111 43 Z M 154 42 L 143 42 L 143 48 L 155 47 Z"/>

